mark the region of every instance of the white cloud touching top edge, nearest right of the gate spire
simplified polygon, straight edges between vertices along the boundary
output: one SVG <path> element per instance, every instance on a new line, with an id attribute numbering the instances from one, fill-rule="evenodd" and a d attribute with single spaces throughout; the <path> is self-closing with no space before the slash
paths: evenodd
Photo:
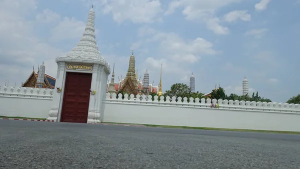
<path id="1" fill-rule="evenodd" d="M 103 13 L 111 12 L 116 22 L 130 20 L 134 23 L 160 21 L 159 0 L 102 0 Z"/>

